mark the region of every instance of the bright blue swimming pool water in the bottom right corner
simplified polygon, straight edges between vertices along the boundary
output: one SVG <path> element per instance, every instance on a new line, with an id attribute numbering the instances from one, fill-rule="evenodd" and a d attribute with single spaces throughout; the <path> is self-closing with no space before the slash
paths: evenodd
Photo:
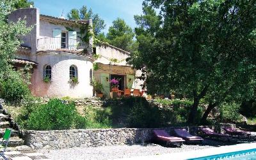
<path id="1" fill-rule="evenodd" d="M 217 154 L 214 156 L 199 157 L 189 160 L 217 160 L 217 159 L 230 159 L 230 160 L 252 160 L 256 159 L 256 149 L 241 150 L 238 152 L 230 152 L 226 154 Z"/>

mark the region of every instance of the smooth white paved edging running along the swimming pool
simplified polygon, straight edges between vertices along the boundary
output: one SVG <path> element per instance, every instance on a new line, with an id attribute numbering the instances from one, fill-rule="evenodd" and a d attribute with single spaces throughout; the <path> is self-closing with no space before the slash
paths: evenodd
<path id="1" fill-rule="evenodd" d="M 130 157 L 130 158 L 123 158 L 123 160 L 134 160 L 134 159 L 192 159 L 198 157 L 205 157 L 205 156 L 213 156 L 216 154 L 225 154 L 228 152 L 237 152 L 241 150 L 249 150 L 249 149 L 256 149 L 256 143 L 242 143 L 238 145 L 228 145 L 228 146 L 221 146 L 211 149 L 202 149 L 202 150 L 193 150 L 187 152 L 177 152 L 172 154 L 162 154 L 162 155 L 154 155 L 154 156 L 138 156 L 138 157 Z"/>

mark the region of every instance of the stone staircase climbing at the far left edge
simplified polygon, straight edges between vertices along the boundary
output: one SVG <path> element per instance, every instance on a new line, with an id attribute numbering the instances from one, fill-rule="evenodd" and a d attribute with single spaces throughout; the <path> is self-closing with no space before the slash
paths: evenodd
<path id="1" fill-rule="evenodd" d="M 4 131 L 6 128 L 12 129 L 10 142 L 8 143 L 8 150 L 28 149 L 29 147 L 24 145 L 24 140 L 20 138 L 19 131 L 17 130 L 17 124 L 15 125 L 11 115 L 8 115 L 6 110 L 3 109 L 3 105 L 0 102 L 0 140 L 3 139 Z"/>

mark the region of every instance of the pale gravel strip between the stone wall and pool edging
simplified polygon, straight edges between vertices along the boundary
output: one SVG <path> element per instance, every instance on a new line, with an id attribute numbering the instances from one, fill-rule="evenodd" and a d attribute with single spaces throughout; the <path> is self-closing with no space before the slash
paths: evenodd
<path id="1" fill-rule="evenodd" d="M 209 145 L 211 144 L 211 145 Z M 182 147 L 163 147 L 156 144 L 146 145 L 119 145 L 106 147 L 72 148 L 60 150 L 39 150 L 51 159 L 116 159 L 135 156 L 150 156 L 170 154 L 173 152 L 184 152 L 189 150 L 200 150 L 218 147 L 224 143 L 209 142 L 204 145 L 182 145 Z M 227 145 L 227 143 L 225 143 Z"/>

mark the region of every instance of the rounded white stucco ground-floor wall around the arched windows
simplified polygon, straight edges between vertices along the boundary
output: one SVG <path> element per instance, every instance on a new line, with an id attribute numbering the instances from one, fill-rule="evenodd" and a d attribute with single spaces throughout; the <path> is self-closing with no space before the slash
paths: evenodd
<path id="1" fill-rule="evenodd" d="M 41 54 L 36 56 L 38 66 L 34 69 L 31 78 L 31 90 L 36 96 L 90 98 L 93 96 L 93 87 L 90 85 L 90 69 L 92 61 L 87 57 L 74 54 Z M 43 82 L 45 65 L 52 67 L 51 83 Z M 71 85 L 69 67 L 76 65 L 79 84 Z"/>

